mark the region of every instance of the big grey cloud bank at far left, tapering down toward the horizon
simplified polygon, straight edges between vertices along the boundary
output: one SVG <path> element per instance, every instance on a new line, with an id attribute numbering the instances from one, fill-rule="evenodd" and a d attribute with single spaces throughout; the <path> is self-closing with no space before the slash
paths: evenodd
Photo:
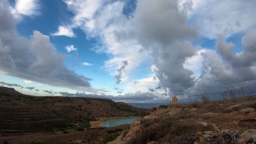
<path id="1" fill-rule="evenodd" d="M 8 75 L 51 86 L 86 92 L 107 92 L 92 88 L 91 79 L 66 68 L 65 55 L 55 49 L 48 35 L 33 31 L 31 39 L 21 37 L 7 1 L 0 2 L 0 68 Z"/>

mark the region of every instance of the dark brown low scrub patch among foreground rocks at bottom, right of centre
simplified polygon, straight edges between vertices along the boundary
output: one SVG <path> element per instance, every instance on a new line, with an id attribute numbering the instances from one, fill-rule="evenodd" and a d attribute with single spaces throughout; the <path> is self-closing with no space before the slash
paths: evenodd
<path id="1" fill-rule="evenodd" d="M 206 127 L 195 122 L 179 122 L 173 118 L 159 118 L 142 121 L 144 128 L 141 133 L 129 141 L 130 144 L 144 144 L 149 141 L 158 143 L 193 143 L 195 134 L 199 131 L 213 130 L 212 126 Z"/>

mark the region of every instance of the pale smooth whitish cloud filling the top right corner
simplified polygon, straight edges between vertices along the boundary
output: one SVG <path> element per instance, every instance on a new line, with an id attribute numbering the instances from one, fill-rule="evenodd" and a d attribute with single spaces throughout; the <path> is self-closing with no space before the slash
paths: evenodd
<path id="1" fill-rule="evenodd" d="M 185 2 L 187 4 L 184 4 Z M 192 3 L 189 5 L 189 2 Z M 190 7 L 189 19 L 196 25 L 201 35 L 211 39 L 217 38 L 218 34 L 228 38 L 232 34 L 245 32 L 248 27 L 256 25 L 253 19 L 256 13 L 254 0 L 179 0 L 179 3 L 181 7 Z"/>

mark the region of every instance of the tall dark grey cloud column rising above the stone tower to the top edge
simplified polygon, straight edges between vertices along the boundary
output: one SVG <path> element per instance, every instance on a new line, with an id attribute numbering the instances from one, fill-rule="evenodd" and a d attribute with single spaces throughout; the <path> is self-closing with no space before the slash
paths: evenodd
<path id="1" fill-rule="evenodd" d="M 188 27 L 187 15 L 178 9 L 178 1 L 138 1 L 133 24 L 136 38 L 152 53 L 159 86 L 170 95 L 183 95 L 193 87 L 193 72 L 185 69 L 183 63 L 195 54 L 189 40 L 196 38 L 197 33 Z"/>

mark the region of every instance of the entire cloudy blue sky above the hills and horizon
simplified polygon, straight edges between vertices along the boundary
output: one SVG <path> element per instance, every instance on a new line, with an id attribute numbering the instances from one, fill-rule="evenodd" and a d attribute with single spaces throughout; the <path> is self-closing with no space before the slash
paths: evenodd
<path id="1" fill-rule="evenodd" d="M 0 86 L 163 103 L 256 86 L 256 1 L 2 0 Z"/>

